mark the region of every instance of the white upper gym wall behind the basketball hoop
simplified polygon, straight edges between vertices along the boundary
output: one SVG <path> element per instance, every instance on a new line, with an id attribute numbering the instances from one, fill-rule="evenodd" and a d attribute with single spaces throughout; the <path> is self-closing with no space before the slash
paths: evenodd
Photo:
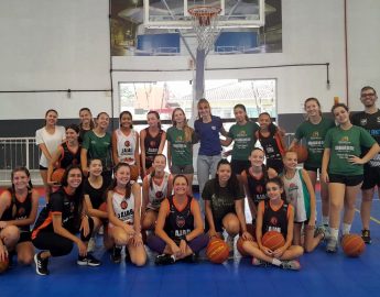
<path id="1" fill-rule="evenodd" d="M 298 63 L 330 63 L 330 88 L 323 66 L 207 72 L 206 78 L 276 78 L 279 113 L 302 112 L 314 96 L 328 111 L 333 98 L 346 100 L 344 0 L 284 0 L 283 53 L 209 56 L 207 67 L 247 67 Z M 378 91 L 380 77 L 380 1 L 347 0 L 349 105 L 362 85 Z M 0 90 L 109 89 L 108 0 L 0 1 Z M 113 57 L 115 102 L 120 81 L 192 79 L 188 58 Z M 140 72 L 139 72 L 140 70 Z M 62 118 L 76 118 L 80 107 L 110 112 L 108 92 L 0 94 L 0 119 L 42 118 L 47 108 Z M 115 106 L 115 113 L 119 111 Z"/>

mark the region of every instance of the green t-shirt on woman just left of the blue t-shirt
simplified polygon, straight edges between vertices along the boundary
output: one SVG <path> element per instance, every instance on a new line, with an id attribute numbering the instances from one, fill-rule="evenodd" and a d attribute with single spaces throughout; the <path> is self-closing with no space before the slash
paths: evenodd
<path id="1" fill-rule="evenodd" d="M 171 127 L 166 131 L 166 140 L 170 142 L 172 164 L 184 166 L 193 164 L 193 143 L 196 143 L 196 136 L 193 131 L 192 141 L 185 142 L 185 132 Z"/>

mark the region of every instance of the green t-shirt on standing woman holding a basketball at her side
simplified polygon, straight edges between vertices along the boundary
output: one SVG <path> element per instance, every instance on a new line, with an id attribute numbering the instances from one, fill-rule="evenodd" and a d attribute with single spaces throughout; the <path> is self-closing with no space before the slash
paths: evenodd
<path id="1" fill-rule="evenodd" d="M 335 127 L 332 119 L 322 118 L 321 122 L 313 124 L 310 121 L 303 122 L 295 131 L 295 139 L 305 139 L 307 146 L 307 160 L 305 165 L 308 167 L 319 168 L 322 166 L 322 157 L 326 133 Z"/>

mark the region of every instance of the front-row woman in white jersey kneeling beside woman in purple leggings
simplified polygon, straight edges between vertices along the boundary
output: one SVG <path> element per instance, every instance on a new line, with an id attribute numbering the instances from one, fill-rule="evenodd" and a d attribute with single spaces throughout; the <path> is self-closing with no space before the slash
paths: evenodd
<path id="1" fill-rule="evenodd" d="M 143 266 L 146 253 L 141 237 L 140 211 L 141 187 L 131 182 L 131 168 L 127 163 L 115 167 L 115 178 L 111 190 L 107 195 L 109 218 L 109 237 L 115 244 L 111 260 L 121 262 L 121 246 L 126 246 L 131 262 Z"/>

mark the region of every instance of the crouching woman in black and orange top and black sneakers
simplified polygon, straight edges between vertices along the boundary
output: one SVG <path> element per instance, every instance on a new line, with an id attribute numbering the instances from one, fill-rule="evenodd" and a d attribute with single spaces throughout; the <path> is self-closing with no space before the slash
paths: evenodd
<path id="1" fill-rule="evenodd" d="M 40 212 L 32 232 L 33 244 L 41 250 L 34 255 L 39 275 L 50 274 L 48 260 L 69 254 L 74 243 L 78 246 L 78 265 L 100 265 L 100 261 L 87 253 L 94 221 L 83 208 L 82 179 L 80 167 L 72 165 L 66 168 L 62 186 L 52 194 L 50 202 Z M 76 237 L 78 232 L 80 238 Z"/>

